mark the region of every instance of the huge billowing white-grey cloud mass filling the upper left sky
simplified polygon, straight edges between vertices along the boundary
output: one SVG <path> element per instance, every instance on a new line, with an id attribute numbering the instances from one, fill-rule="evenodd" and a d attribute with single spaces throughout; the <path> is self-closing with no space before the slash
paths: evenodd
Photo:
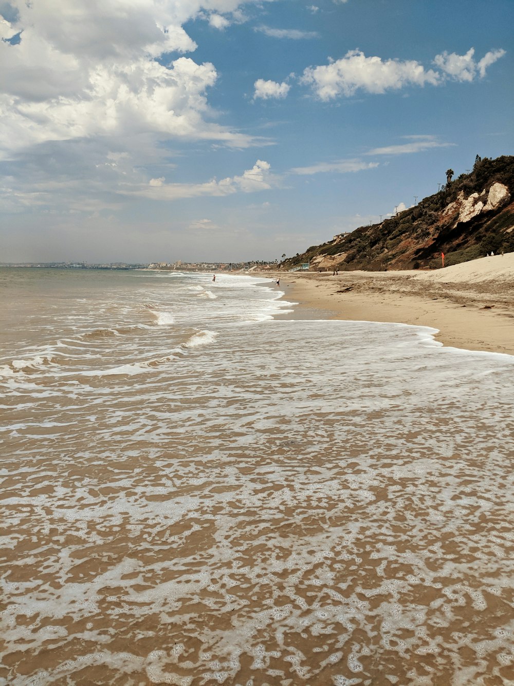
<path id="1" fill-rule="evenodd" d="M 212 25 L 223 28 L 224 14 L 244 2 L 212 0 Z M 4 157 L 45 141 L 148 133 L 252 144 L 252 137 L 209 121 L 215 67 L 178 55 L 197 47 L 183 24 L 201 4 L 138 0 L 124 12 L 119 0 L 103 0 L 97 12 L 90 0 L 12 0 L 16 19 L 0 20 Z M 171 61 L 158 61 L 170 53 Z"/>

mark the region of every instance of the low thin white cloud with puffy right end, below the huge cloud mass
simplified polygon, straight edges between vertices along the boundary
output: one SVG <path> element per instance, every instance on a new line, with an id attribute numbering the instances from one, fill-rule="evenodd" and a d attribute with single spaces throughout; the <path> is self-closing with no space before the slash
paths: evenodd
<path id="1" fill-rule="evenodd" d="M 278 185 L 278 177 L 271 174 L 269 163 L 257 160 L 252 169 L 243 171 L 241 176 L 212 179 L 205 183 L 169 183 L 156 185 L 150 180 L 145 187 L 120 189 L 121 193 L 143 196 L 153 200 L 179 200 L 180 198 L 199 198 L 202 196 L 222 197 L 232 193 L 255 193 L 266 191 Z"/>

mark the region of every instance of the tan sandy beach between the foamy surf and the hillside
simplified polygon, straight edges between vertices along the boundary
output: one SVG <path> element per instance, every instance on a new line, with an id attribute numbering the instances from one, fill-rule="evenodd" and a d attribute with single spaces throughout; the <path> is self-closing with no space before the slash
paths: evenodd
<path id="1" fill-rule="evenodd" d="M 432 272 L 282 272 L 280 287 L 330 319 L 418 324 L 444 345 L 514 355 L 514 252 Z"/>

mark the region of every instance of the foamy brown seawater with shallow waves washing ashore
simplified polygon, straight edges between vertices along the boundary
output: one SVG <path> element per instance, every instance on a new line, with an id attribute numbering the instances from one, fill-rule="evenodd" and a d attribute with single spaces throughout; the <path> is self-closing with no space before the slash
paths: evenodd
<path id="1" fill-rule="evenodd" d="M 514 357 L 256 276 L 0 293 L 1 684 L 514 684 Z"/>

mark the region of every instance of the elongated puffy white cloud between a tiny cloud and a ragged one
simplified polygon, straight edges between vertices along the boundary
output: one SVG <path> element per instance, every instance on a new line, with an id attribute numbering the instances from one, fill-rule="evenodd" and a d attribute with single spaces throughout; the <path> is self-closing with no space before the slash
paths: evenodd
<path id="1" fill-rule="evenodd" d="M 380 57 L 366 57 L 360 50 L 350 50 L 331 64 L 308 67 L 301 81 L 312 86 L 319 99 L 328 101 L 339 95 L 354 95 L 359 88 L 368 93 L 385 93 L 408 84 L 435 85 L 438 80 L 435 71 L 425 71 L 414 60 L 382 62 Z"/>

